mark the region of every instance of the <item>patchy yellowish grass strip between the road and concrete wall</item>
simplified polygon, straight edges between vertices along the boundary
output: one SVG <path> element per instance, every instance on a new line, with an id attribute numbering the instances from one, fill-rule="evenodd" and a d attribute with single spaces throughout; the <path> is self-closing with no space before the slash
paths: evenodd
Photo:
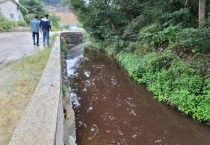
<path id="1" fill-rule="evenodd" d="M 51 37 L 51 42 L 55 40 Z M 0 70 L 0 144 L 7 145 L 41 78 L 51 49 L 8 64 Z"/>

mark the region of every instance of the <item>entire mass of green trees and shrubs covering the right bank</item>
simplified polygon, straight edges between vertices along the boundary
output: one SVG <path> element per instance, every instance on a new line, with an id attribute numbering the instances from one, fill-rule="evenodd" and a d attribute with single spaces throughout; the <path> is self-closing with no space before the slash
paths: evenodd
<path id="1" fill-rule="evenodd" d="M 68 2 L 89 44 L 115 56 L 157 100 L 210 123 L 210 1 L 199 1 L 204 26 L 197 0 Z"/>

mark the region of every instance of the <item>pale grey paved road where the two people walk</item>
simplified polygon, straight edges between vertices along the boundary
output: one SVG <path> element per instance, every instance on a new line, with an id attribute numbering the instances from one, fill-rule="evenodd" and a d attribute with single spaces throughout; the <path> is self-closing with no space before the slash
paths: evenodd
<path id="1" fill-rule="evenodd" d="M 33 45 L 31 32 L 0 33 L 0 65 L 20 59 L 24 55 L 33 55 L 42 48 L 42 44 L 40 47 Z"/>

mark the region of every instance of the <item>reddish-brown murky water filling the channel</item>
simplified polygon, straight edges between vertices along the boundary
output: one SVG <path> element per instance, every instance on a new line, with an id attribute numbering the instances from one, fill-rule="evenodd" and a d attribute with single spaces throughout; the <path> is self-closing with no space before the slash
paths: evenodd
<path id="1" fill-rule="evenodd" d="M 78 52 L 67 60 L 78 145 L 210 145 L 209 126 L 157 102 L 104 54 Z"/>

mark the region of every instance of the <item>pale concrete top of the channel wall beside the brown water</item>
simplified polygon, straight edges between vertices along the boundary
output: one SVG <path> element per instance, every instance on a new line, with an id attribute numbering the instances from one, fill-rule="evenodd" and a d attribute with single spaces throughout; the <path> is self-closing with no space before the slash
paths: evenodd
<path id="1" fill-rule="evenodd" d="M 60 39 L 9 145 L 64 145 Z"/>

